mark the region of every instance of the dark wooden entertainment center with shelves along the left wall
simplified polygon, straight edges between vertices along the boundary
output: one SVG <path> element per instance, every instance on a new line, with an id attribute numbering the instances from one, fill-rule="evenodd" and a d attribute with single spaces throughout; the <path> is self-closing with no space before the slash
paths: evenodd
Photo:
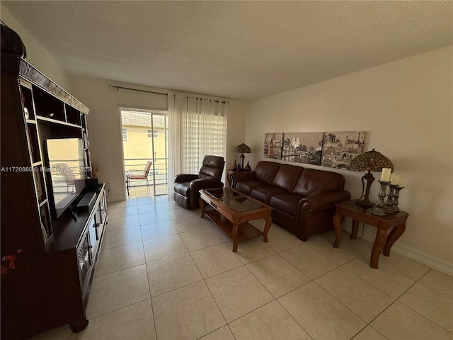
<path id="1" fill-rule="evenodd" d="M 26 60 L 1 53 L 1 339 L 25 339 L 64 324 L 81 331 L 88 324 L 107 203 L 105 185 L 85 186 L 91 178 L 87 114 L 83 103 Z M 46 149 L 52 139 L 80 141 L 83 154 L 83 191 L 73 193 L 74 181 L 60 181 L 71 204 L 58 215 Z M 76 209 L 88 191 L 96 193 L 91 204 Z"/>

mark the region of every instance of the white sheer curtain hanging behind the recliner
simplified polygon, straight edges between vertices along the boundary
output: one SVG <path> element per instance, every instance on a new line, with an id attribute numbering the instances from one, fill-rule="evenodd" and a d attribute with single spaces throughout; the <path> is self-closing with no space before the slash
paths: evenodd
<path id="1" fill-rule="evenodd" d="M 174 176 L 197 174 L 205 154 L 225 157 L 227 111 L 222 99 L 168 94 L 168 196 L 173 196 Z"/>

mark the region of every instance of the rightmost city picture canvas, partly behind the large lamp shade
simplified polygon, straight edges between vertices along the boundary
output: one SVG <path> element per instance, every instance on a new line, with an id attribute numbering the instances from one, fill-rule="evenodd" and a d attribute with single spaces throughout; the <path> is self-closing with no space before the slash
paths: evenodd
<path id="1" fill-rule="evenodd" d="M 324 132 L 321 165 L 349 169 L 352 159 L 365 149 L 367 132 Z"/>

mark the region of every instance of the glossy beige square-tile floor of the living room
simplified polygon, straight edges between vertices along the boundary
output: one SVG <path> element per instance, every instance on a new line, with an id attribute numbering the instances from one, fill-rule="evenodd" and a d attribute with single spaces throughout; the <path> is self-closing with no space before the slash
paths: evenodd
<path id="1" fill-rule="evenodd" d="M 79 334 L 35 339 L 453 339 L 453 278 L 333 232 L 232 242 L 166 196 L 110 203 Z M 264 221 L 256 221 L 262 228 Z"/>

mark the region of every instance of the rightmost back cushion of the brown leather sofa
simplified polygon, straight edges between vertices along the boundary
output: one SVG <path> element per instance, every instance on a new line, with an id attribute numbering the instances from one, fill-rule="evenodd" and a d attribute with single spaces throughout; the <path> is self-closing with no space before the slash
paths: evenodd
<path id="1" fill-rule="evenodd" d="M 324 191 L 343 190 L 345 178 L 331 171 L 304 169 L 292 193 L 300 196 L 311 196 Z"/>

